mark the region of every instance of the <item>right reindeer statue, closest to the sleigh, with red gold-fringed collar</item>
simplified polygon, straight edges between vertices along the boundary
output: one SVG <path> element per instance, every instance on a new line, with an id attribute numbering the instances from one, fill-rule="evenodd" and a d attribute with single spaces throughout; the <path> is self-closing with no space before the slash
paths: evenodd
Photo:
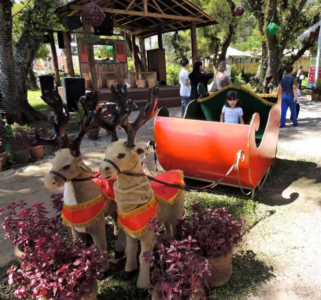
<path id="1" fill-rule="evenodd" d="M 126 93 L 123 94 L 127 98 Z M 153 250 L 152 231 L 147 231 L 150 218 L 158 217 L 164 222 L 166 234 L 173 235 L 177 220 L 182 219 L 184 212 L 185 192 L 160 183 L 150 183 L 146 177 L 139 156 L 145 150 L 135 146 L 135 134 L 157 110 L 158 88 L 149 89 L 149 100 L 138 113 L 133 123 L 129 114 L 121 120 L 121 127 L 127 133 L 127 141 L 110 143 L 105 151 L 105 159 L 100 164 L 100 173 L 104 179 L 117 175 L 114 183 L 115 200 L 118 207 L 118 226 L 126 232 L 127 261 L 125 279 L 132 279 L 137 271 L 138 239 L 141 243 L 139 256 L 139 275 L 136 296 L 143 297 L 147 283 L 150 283 L 150 266 L 144 262 L 142 254 Z M 99 122 L 95 121 L 96 125 Z M 156 176 L 168 183 L 184 184 L 183 172 L 169 171 Z"/>

